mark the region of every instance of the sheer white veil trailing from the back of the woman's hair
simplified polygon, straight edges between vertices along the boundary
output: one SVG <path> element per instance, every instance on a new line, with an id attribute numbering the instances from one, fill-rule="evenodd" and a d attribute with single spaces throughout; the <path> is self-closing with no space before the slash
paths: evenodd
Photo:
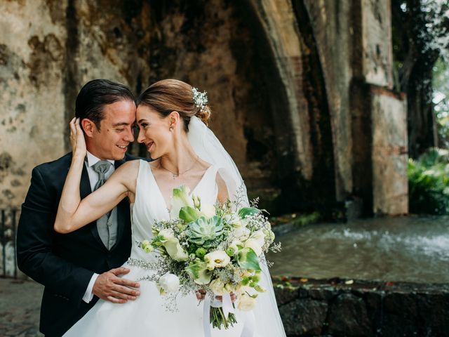
<path id="1" fill-rule="evenodd" d="M 190 119 L 187 137 L 190 145 L 201 159 L 219 168 L 218 172 L 225 180 L 229 199 L 239 198 L 241 206 L 247 206 L 249 204 L 248 195 L 239 169 L 210 128 L 194 116 Z M 262 260 L 260 265 L 263 276 L 260 284 L 267 289 L 267 292 L 261 293 L 257 297 L 257 305 L 253 310 L 257 317 L 256 330 L 263 331 L 263 336 L 286 336 L 274 297 L 272 279 L 267 264 L 264 263 L 264 257 Z"/>

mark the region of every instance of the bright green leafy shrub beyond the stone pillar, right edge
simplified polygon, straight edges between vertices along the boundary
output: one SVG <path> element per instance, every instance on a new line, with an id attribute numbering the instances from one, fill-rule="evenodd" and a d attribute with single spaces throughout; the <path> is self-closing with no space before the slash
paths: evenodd
<path id="1" fill-rule="evenodd" d="M 427 150 L 408 161 L 410 213 L 449 214 L 449 152 Z"/>

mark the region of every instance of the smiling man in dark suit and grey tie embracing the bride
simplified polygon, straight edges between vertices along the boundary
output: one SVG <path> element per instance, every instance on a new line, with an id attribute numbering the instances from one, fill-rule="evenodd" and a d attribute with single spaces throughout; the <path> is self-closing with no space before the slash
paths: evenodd
<path id="1" fill-rule="evenodd" d="M 134 95 L 106 79 L 88 82 L 76 98 L 88 154 L 81 177 L 81 198 L 105 182 L 123 162 L 133 142 Z M 48 144 L 51 146 L 51 144 Z M 98 298 L 126 303 L 139 296 L 139 284 L 119 275 L 131 246 L 130 211 L 123 200 L 97 221 L 69 234 L 58 234 L 53 223 L 72 152 L 32 171 L 18 225 L 18 266 L 43 284 L 40 331 L 62 336 Z"/>

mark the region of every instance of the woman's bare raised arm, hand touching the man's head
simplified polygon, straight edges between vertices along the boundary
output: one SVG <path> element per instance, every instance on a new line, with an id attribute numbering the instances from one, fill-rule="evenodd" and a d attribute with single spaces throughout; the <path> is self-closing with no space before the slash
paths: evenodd
<path id="1" fill-rule="evenodd" d="M 73 157 L 55 219 L 54 229 L 59 233 L 73 232 L 113 209 L 133 190 L 130 177 L 136 177 L 138 170 L 138 165 L 132 161 L 121 165 L 105 185 L 81 200 L 79 185 L 86 157 L 86 144 L 78 120 L 70 122 L 70 129 Z"/>

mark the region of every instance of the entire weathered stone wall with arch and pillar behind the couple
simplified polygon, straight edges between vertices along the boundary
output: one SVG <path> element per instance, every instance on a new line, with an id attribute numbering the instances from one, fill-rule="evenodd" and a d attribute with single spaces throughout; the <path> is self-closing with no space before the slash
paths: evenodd
<path id="1" fill-rule="evenodd" d="M 396 170 L 399 190 L 389 192 L 396 185 L 375 179 L 370 130 L 378 103 L 365 101 L 369 86 L 391 89 L 389 6 L 389 0 L 1 2 L 0 207 L 19 206 L 32 167 L 69 150 L 67 124 L 86 81 L 104 77 L 140 93 L 171 77 L 208 91 L 210 127 L 251 196 L 272 213 L 326 210 L 354 199 L 365 213 L 406 213 L 395 198 L 375 204 L 384 193 L 405 195 L 406 176 Z M 389 118 L 393 105 L 385 104 Z M 404 107 L 394 105 L 398 115 Z M 130 152 L 146 155 L 137 143 Z M 391 157 L 389 167 L 403 163 L 401 156 Z"/>

